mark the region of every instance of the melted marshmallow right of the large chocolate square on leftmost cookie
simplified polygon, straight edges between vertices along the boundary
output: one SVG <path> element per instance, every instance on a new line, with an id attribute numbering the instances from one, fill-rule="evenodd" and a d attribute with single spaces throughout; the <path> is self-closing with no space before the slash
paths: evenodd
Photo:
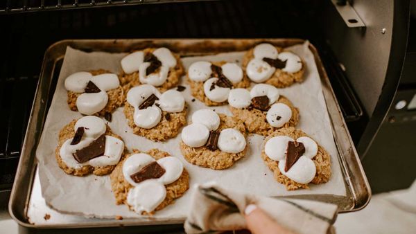
<path id="1" fill-rule="evenodd" d="M 124 143 L 114 136 L 105 136 L 105 150 L 103 156 L 98 156 L 89 160 L 89 165 L 93 167 L 105 167 L 119 163 L 123 154 Z"/>

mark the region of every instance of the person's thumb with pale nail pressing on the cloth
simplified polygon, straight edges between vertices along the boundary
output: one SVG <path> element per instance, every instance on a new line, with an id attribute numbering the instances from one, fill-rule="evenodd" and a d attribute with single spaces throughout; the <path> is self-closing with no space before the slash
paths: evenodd
<path id="1" fill-rule="evenodd" d="M 271 219 L 254 204 L 248 205 L 244 213 L 248 229 L 254 234 L 295 234 L 277 224 L 275 220 Z"/>

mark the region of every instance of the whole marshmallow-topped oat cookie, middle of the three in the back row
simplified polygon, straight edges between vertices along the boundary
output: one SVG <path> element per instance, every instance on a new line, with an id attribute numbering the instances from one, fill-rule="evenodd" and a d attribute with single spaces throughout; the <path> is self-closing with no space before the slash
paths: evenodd
<path id="1" fill-rule="evenodd" d="M 189 66 L 187 82 L 192 96 L 208 106 L 226 105 L 230 89 L 250 86 L 250 80 L 240 66 L 225 61 L 194 62 Z"/>

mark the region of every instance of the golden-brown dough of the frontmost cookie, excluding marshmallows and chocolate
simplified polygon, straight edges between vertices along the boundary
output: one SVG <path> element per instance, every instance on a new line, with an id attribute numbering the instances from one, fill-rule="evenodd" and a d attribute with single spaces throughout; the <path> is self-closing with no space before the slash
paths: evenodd
<path id="1" fill-rule="evenodd" d="M 139 153 L 139 150 L 133 150 L 132 154 L 137 153 Z M 125 156 L 125 159 L 127 159 L 132 154 L 128 154 L 127 156 Z M 156 160 L 162 159 L 165 156 L 170 156 L 170 154 L 168 154 L 167 152 L 163 152 L 157 149 L 149 150 L 148 152 L 146 152 L 146 154 L 149 154 Z M 128 191 L 131 188 L 133 188 L 133 186 L 130 183 L 128 183 L 128 181 L 126 181 L 123 176 L 123 163 L 125 159 L 123 159 L 123 161 L 120 161 L 120 163 L 110 174 L 110 181 L 112 192 L 114 192 L 114 197 L 116 198 L 116 204 L 125 204 L 130 208 L 130 210 L 132 210 L 132 207 L 130 207 L 130 205 L 127 203 L 127 195 Z M 153 215 L 157 210 L 162 210 L 169 204 L 173 204 L 175 199 L 182 197 L 182 195 L 184 195 L 184 193 L 187 192 L 187 190 L 189 189 L 189 174 L 187 170 L 185 170 L 184 168 L 182 175 L 179 177 L 179 179 L 177 179 L 173 183 L 165 185 L 165 187 L 166 198 L 164 199 L 164 201 L 162 201 L 162 203 L 159 204 L 159 206 L 157 206 L 157 208 L 155 208 L 155 210 L 152 213 L 143 212 L 142 215 Z"/>

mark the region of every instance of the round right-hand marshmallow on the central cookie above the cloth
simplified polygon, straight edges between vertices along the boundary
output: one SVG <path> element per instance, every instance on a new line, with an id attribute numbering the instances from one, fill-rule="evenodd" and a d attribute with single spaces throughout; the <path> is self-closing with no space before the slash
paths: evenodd
<path id="1" fill-rule="evenodd" d="M 233 128 L 226 128 L 218 136 L 218 149 L 223 152 L 237 154 L 245 148 L 245 137 Z"/>

